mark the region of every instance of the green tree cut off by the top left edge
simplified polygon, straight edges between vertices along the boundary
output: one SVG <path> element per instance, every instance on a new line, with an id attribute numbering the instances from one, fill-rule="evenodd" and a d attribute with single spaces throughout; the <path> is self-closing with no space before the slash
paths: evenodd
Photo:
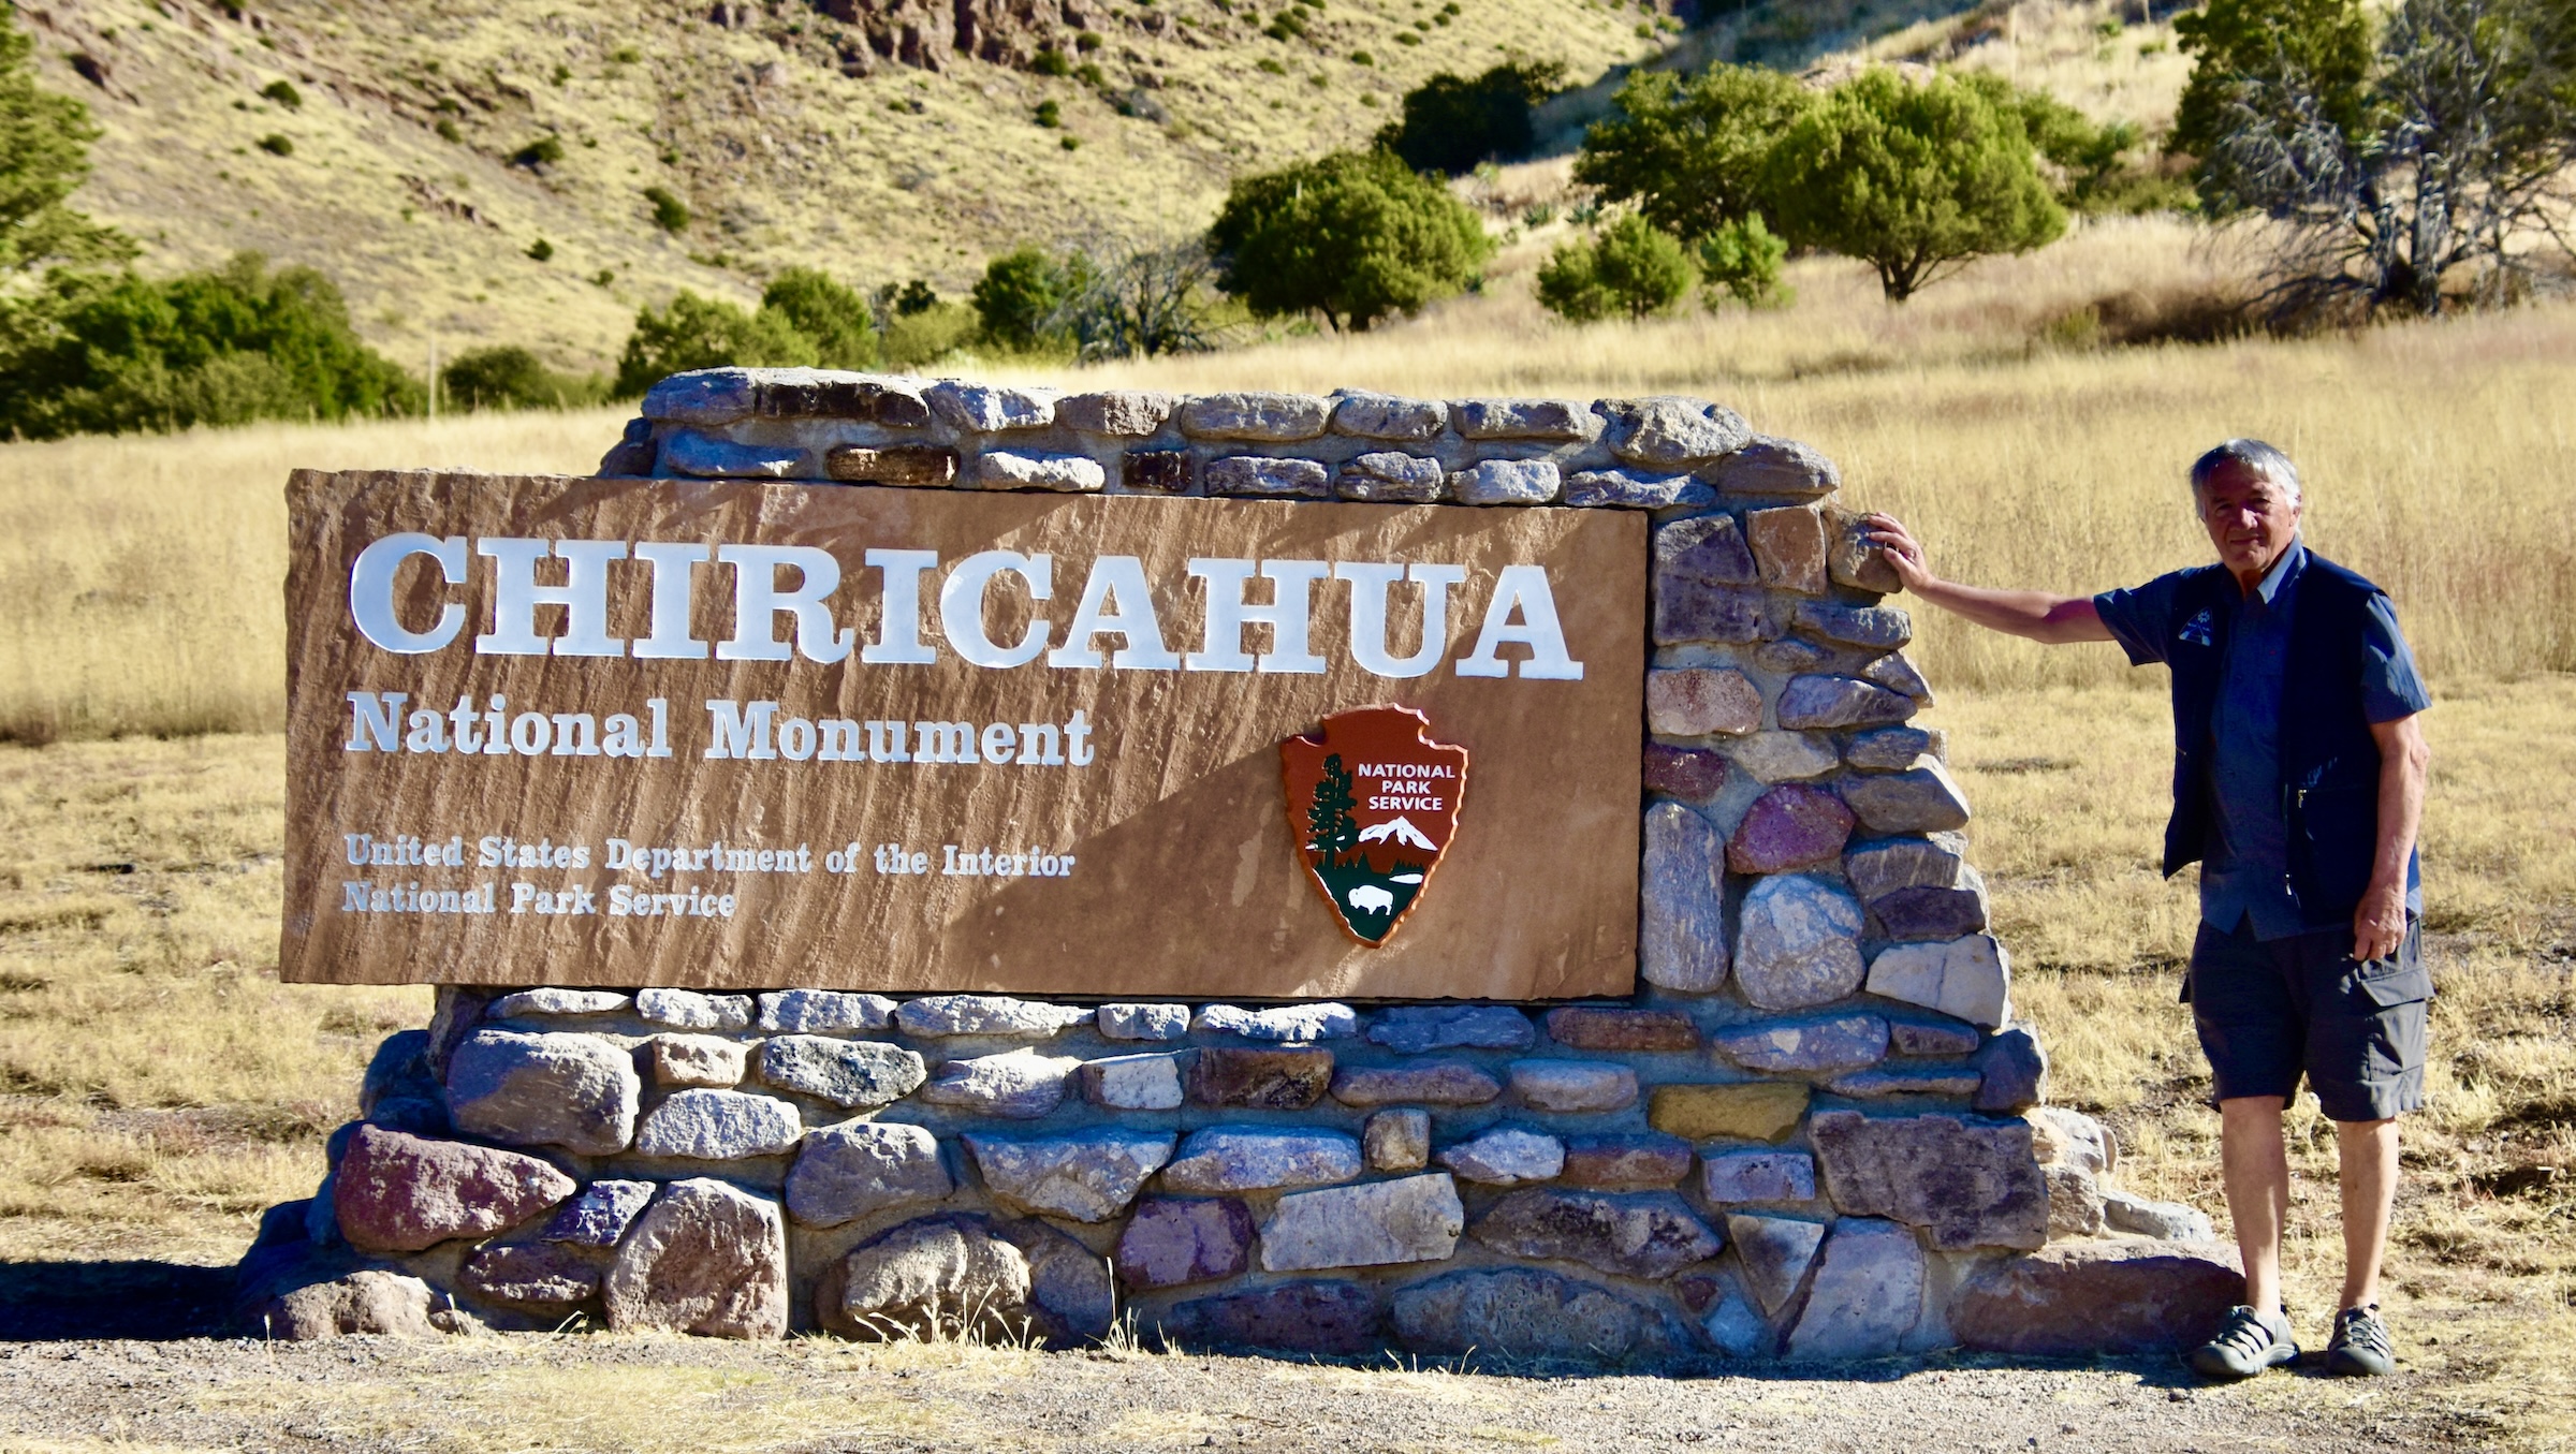
<path id="1" fill-rule="evenodd" d="M 124 262 L 134 244 L 64 206 L 90 175 L 98 126 L 70 95 L 36 87 L 36 44 L 0 10 L 0 291 L 49 265 Z"/>

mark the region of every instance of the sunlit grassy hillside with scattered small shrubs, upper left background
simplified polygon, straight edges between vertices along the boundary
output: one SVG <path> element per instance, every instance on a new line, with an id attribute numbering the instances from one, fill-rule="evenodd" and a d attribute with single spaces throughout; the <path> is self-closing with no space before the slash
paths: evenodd
<path id="1" fill-rule="evenodd" d="M 1437 69 L 1517 54 L 1592 77 L 1651 54 L 1651 3 L 1311 0 L 1288 39 L 1265 33 L 1285 0 L 1046 5 L 1023 49 L 1051 36 L 1097 85 L 881 59 L 799 0 L 36 0 L 18 23 L 44 82 L 106 126 L 80 206 L 144 239 L 147 268 L 314 262 L 420 371 L 433 332 L 598 365 L 636 304 L 747 299 L 791 262 L 956 293 L 1018 242 L 1164 239 L 1236 170 L 1363 142 Z M 281 80 L 296 106 L 263 95 Z M 657 229 L 647 188 L 693 224 Z"/>

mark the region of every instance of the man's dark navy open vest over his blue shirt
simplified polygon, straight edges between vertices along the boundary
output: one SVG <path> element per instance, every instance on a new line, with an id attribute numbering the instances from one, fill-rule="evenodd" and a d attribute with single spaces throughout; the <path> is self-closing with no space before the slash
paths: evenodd
<path id="1" fill-rule="evenodd" d="M 2290 618 L 2280 692 L 2280 813 L 2290 829 L 2290 898 L 2313 929 L 2352 919 L 2370 888 L 2380 829 L 2380 744 L 2362 710 L 2362 649 L 2380 587 L 2308 551 Z M 2221 664 L 2244 592 L 2226 566 L 2192 571 L 2174 594 L 2174 620 L 2208 612 L 2208 651 L 2166 651 L 2174 669 L 2174 818 L 2164 826 L 2164 875 L 2208 854 L 2210 721 Z M 2414 885 L 2414 865 L 2406 870 Z"/>

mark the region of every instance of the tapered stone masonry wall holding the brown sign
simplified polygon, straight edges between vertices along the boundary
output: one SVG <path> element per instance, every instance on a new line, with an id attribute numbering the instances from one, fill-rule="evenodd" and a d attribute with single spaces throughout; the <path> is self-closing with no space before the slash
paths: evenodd
<path id="1" fill-rule="evenodd" d="M 1654 512 L 1625 1001 L 440 988 L 242 1269 L 273 1336 L 981 1328 L 1692 1369 L 2174 1346 L 2187 1207 L 2045 1104 L 1834 466 L 1695 399 L 662 381 L 600 474 Z"/>

